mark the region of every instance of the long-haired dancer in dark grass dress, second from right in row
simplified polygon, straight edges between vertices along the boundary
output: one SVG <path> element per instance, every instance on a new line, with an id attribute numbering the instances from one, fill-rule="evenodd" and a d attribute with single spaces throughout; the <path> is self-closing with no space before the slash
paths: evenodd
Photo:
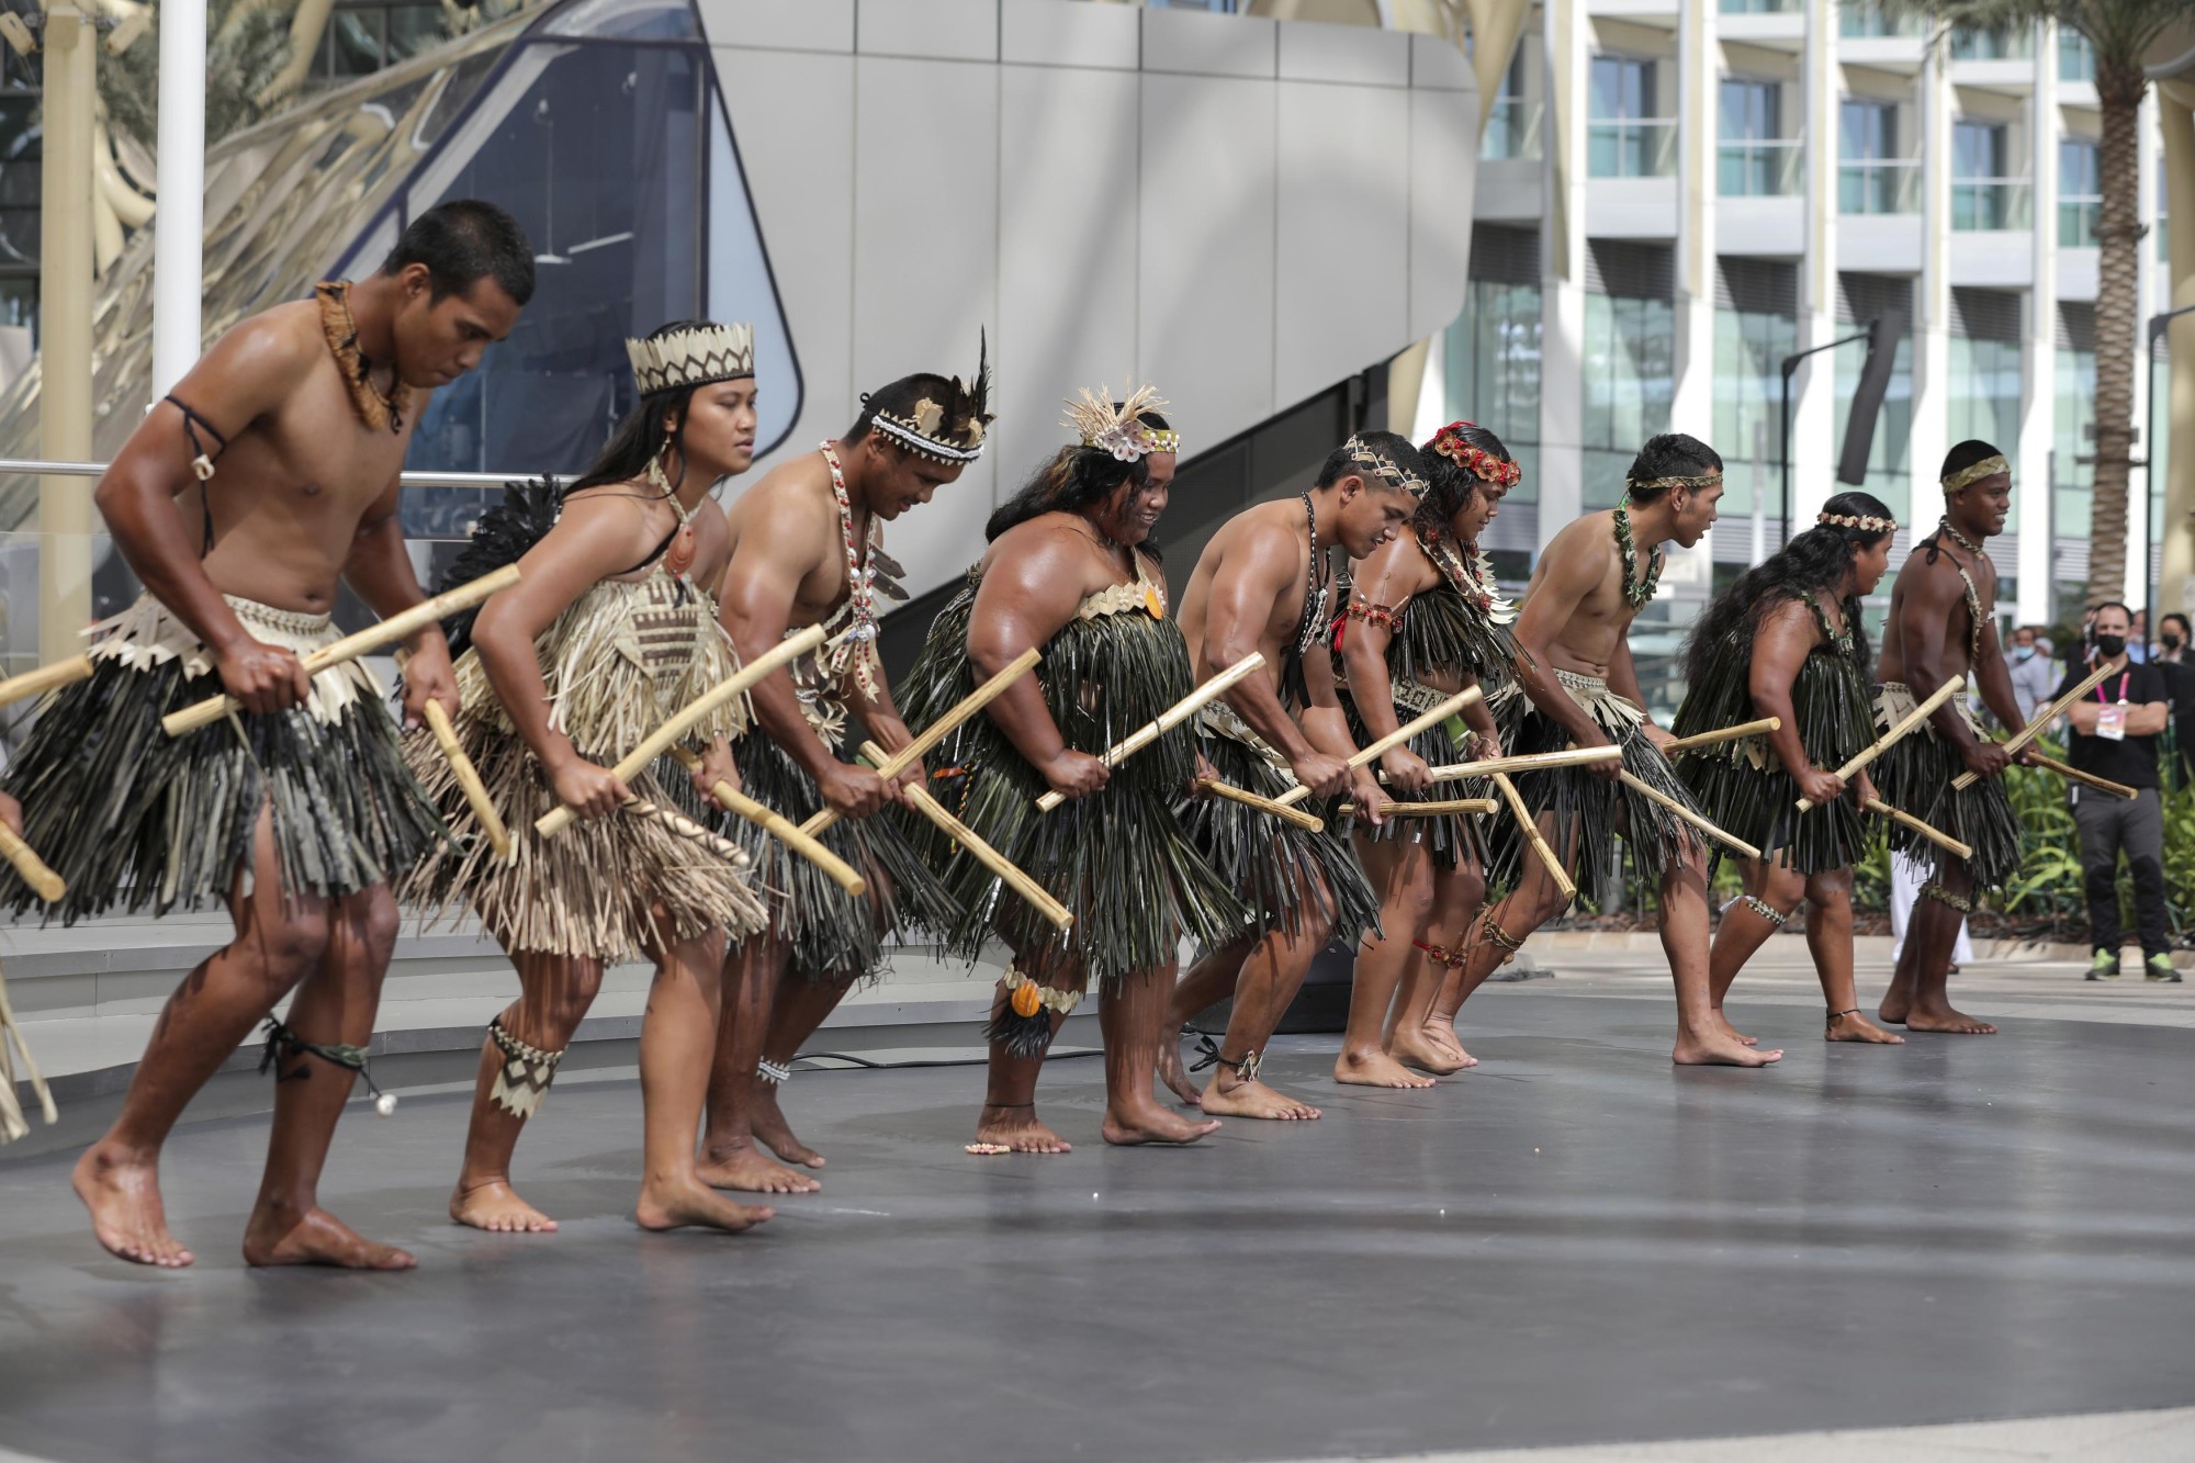
<path id="1" fill-rule="evenodd" d="M 1859 1015 L 1853 993 L 1853 863 L 1866 848 L 1859 815 L 1875 782 L 1866 771 L 1853 782 L 1826 771 L 1875 740 L 1859 600 L 1890 567 L 1892 532 L 1879 499 L 1839 492 L 1811 529 L 1738 576 L 1692 626 L 1677 736 L 1782 721 L 1767 736 L 1677 758 L 1708 817 L 1765 855 L 1745 861 L 1745 894 L 1714 931 L 1708 989 L 1725 1028 L 1723 997 L 1738 969 L 1806 898 L 1806 949 L 1828 999 L 1824 1039 L 1903 1041 Z M 1815 806 L 1800 813 L 1800 797 Z"/>

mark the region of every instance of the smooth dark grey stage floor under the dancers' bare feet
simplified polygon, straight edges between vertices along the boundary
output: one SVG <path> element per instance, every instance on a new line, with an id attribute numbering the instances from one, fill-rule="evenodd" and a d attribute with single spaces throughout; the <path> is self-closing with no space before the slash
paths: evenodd
<path id="1" fill-rule="evenodd" d="M 68 1160 L 0 1169 L 0 1445 L 46 1459 L 1304 1459 L 2195 1401 L 2195 1032 L 1679 1072 L 1666 999 L 1488 989 L 1431 1092 L 1269 1072 L 1315 1125 L 966 1158 L 975 1068 L 795 1079 L 825 1193 L 746 1237 L 641 1235 L 630 1081 L 520 1151 L 555 1237 L 439 1219 L 459 1096 L 353 1107 L 327 1197 L 410 1276 L 235 1259 L 263 1120 L 187 1127 L 200 1265 L 105 1259 Z"/>

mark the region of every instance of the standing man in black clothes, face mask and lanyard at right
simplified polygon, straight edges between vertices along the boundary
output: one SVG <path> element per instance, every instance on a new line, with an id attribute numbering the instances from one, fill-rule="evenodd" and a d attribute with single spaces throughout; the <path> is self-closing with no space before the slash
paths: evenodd
<path id="1" fill-rule="evenodd" d="M 2134 874 L 2134 918 L 2142 938 L 2142 975 L 2180 980 L 2164 925 L 2164 806 L 2158 795 L 2158 736 L 2171 716 L 2164 677 L 2129 659 L 2134 617 L 2125 604 L 2098 604 L 2087 666 L 2070 666 L 2057 694 L 2068 694 L 2096 666 L 2112 674 L 2065 714 L 2072 723 L 2065 760 L 2085 773 L 2136 789 L 2134 802 L 2116 793 L 2072 786 L 2074 826 L 2081 830 L 2081 868 L 2087 874 L 2090 980 L 2118 978 L 2123 929 L 2118 923 L 2118 855 Z"/>

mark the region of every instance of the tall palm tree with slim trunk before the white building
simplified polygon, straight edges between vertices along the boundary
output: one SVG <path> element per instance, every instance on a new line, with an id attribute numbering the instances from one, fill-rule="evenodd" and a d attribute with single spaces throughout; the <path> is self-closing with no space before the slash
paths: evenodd
<path id="1" fill-rule="evenodd" d="M 2138 204 L 2138 114 L 2149 90 L 2142 59 L 2188 20 L 2188 0 L 1899 0 L 1967 31 L 2024 31 L 2057 22 L 2087 37 L 2096 57 L 2103 138 L 2096 171 L 2096 488 L 2087 549 L 2087 602 L 2120 598 L 2127 584 L 2127 474 L 2134 448 L 2134 362 L 2140 325 L 2138 248 L 2149 226 Z M 2155 424 L 2151 424 L 2155 437 Z"/>

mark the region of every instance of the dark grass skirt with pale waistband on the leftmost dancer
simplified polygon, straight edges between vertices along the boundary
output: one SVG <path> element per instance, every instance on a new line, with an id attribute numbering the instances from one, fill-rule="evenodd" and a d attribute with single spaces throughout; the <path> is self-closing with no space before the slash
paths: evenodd
<path id="1" fill-rule="evenodd" d="M 301 657 L 340 639 L 327 615 L 228 604 L 255 639 Z M 92 677 L 48 696 L 7 775 L 24 839 L 68 881 L 59 903 L 42 905 L 11 868 L 0 872 L 18 916 L 72 925 L 219 905 L 239 870 L 248 887 L 268 804 L 285 894 L 358 894 L 443 839 L 364 666 L 323 670 L 305 705 L 171 738 L 165 714 L 222 694 L 204 646 L 149 595 L 97 630 Z"/>

